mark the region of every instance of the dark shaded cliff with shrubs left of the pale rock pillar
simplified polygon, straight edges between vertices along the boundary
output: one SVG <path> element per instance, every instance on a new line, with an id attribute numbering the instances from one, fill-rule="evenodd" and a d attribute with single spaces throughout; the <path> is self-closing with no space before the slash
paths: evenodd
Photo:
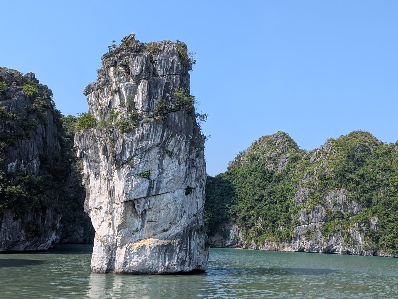
<path id="1" fill-rule="evenodd" d="M 92 243 L 71 151 L 76 117 L 60 114 L 34 73 L 0 72 L 0 251 Z"/>

